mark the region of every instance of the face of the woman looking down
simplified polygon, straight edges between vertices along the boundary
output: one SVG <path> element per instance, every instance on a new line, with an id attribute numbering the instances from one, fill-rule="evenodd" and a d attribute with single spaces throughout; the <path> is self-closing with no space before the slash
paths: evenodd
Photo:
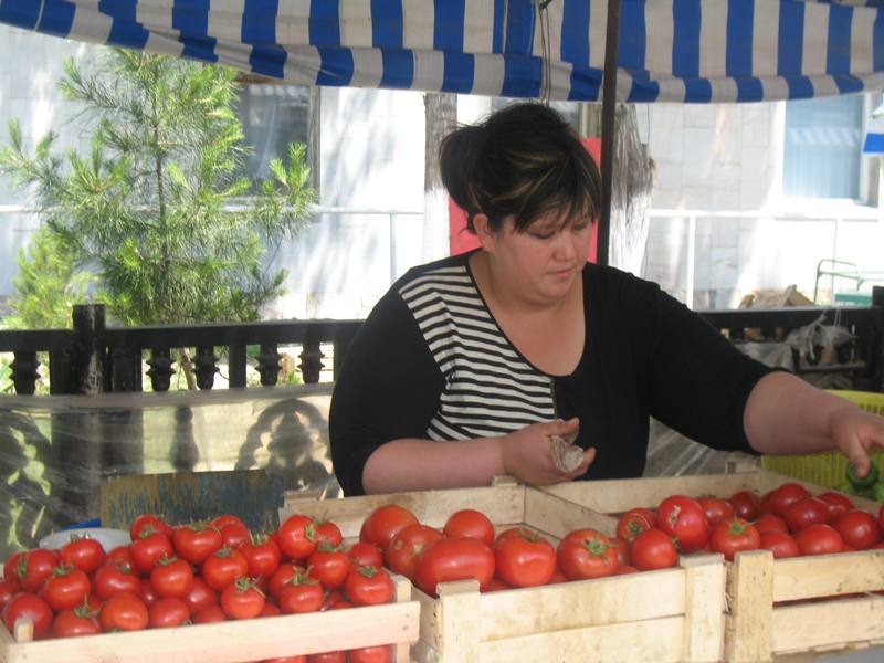
<path id="1" fill-rule="evenodd" d="M 555 303 L 580 277 L 591 241 L 589 219 L 562 222 L 560 217 L 538 219 L 517 232 L 512 218 L 497 232 L 487 232 L 483 249 L 495 282 L 518 298 Z"/>

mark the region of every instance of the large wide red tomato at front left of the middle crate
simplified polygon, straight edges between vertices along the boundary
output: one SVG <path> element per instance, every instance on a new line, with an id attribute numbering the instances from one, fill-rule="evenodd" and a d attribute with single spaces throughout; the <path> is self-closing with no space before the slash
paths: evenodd
<path id="1" fill-rule="evenodd" d="M 423 549 L 414 569 L 414 583 L 435 596 L 440 582 L 478 580 L 483 589 L 494 576 L 494 552 L 474 538 L 441 538 Z"/>

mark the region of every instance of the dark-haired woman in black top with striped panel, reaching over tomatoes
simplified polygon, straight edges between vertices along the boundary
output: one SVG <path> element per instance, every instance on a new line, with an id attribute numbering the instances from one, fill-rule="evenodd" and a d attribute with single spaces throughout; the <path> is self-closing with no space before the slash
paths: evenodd
<path id="1" fill-rule="evenodd" d="M 601 198 L 539 104 L 449 135 L 442 179 L 481 248 L 415 267 L 354 340 L 329 414 L 348 495 L 640 476 L 649 417 L 722 450 L 836 448 L 864 475 L 884 419 L 749 359 L 656 284 L 588 264 Z M 556 438 L 582 457 L 560 469 Z"/>

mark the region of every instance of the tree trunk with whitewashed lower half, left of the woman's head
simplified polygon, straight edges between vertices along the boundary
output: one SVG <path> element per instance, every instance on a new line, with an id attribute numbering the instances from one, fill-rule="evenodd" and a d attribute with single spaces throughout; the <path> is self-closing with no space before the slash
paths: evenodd
<path id="1" fill-rule="evenodd" d="M 439 172 L 439 145 L 457 120 L 457 95 L 428 92 L 423 106 L 427 128 L 421 261 L 430 262 L 449 254 L 449 197 Z"/>

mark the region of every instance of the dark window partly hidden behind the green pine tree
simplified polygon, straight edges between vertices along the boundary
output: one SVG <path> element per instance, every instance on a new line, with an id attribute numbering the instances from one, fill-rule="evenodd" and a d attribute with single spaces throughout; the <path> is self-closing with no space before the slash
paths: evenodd
<path id="1" fill-rule="evenodd" d="M 288 164 L 288 144 L 307 146 L 311 183 L 318 188 L 318 92 L 303 85 L 245 82 L 236 114 L 251 154 L 241 173 L 253 182 L 271 176 L 270 162 Z"/>

